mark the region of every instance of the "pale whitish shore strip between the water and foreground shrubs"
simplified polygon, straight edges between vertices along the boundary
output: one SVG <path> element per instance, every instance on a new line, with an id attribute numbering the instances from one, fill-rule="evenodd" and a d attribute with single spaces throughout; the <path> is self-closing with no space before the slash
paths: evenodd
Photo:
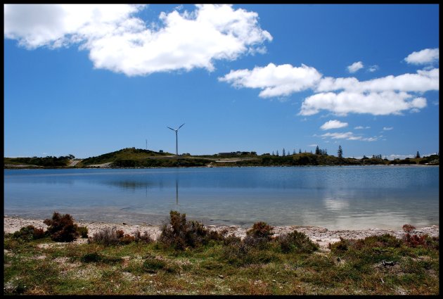
<path id="1" fill-rule="evenodd" d="M 46 229 L 47 225 L 43 223 L 44 220 L 36 220 L 36 219 L 25 219 L 15 216 L 4 216 L 4 233 L 13 233 L 14 231 L 20 230 L 22 227 L 26 227 L 27 225 L 33 225 L 37 228 Z M 88 235 L 93 236 L 94 233 L 100 231 L 101 229 L 105 229 L 106 227 L 116 229 L 121 229 L 125 234 L 133 234 L 135 231 L 140 231 L 143 233 L 144 231 L 148 231 L 150 236 L 153 238 L 157 238 L 160 236 L 160 226 L 155 225 L 129 225 L 129 224 L 113 224 L 113 223 L 105 223 L 105 222 L 85 222 L 85 221 L 75 221 L 79 226 L 86 226 L 89 230 Z M 208 229 L 221 231 L 222 229 L 228 229 L 229 234 L 233 233 L 236 236 L 240 236 L 243 238 L 246 236 L 246 231 L 248 229 L 237 227 L 235 225 L 232 226 L 215 226 L 208 225 Z M 367 236 L 381 236 L 383 234 L 392 234 L 397 238 L 401 238 L 404 235 L 404 231 L 399 230 L 390 230 L 390 229 L 361 229 L 361 230 L 328 230 L 322 227 L 297 227 L 297 226 L 286 226 L 286 227 L 274 227 L 274 236 L 278 236 L 279 234 L 290 233 L 291 231 L 300 231 L 312 241 L 319 243 L 319 246 L 323 250 L 327 250 L 328 243 L 335 243 L 340 241 L 340 237 L 347 239 L 358 239 L 358 238 L 366 238 Z M 413 231 L 413 234 L 428 234 L 429 236 L 439 236 L 439 226 L 432 225 L 431 227 L 420 227 Z M 76 243 L 85 243 L 86 238 L 78 238 Z"/>

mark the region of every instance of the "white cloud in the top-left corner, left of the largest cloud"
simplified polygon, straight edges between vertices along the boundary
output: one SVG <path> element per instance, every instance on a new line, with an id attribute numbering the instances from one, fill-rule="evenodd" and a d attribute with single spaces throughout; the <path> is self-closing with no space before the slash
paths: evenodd
<path id="1" fill-rule="evenodd" d="M 91 31 L 103 36 L 142 8 L 127 4 L 5 4 L 4 35 L 18 39 L 27 49 L 58 48 L 84 42 L 89 38 L 84 35 Z"/>

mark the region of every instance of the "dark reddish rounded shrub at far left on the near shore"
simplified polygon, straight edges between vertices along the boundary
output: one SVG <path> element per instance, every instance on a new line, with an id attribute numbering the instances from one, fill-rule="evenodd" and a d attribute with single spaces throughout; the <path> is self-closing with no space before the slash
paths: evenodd
<path id="1" fill-rule="evenodd" d="M 53 241 L 72 242 L 79 236 L 77 224 L 74 224 L 69 214 L 60 215 L 54 212 L 52 220 L 46 219 L 44 224 L 49 225 L 48 232 Z"/>

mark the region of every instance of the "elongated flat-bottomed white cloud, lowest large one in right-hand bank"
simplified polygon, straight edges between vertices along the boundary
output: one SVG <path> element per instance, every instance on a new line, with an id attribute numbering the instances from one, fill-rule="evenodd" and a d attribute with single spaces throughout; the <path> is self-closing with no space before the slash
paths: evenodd
<path id="1" fill-rule="evenodd" d="M 329 110 L 335 115 L 347 113 L 370 113 L 373 115 L 401 114 L 404 110 L 424 108 L 425 98 L 413 98 L 405 92 L 371 92 L 360 94 L 357 92 L 342 91 L 314 94 L 304 99 L 300 115 L 314 115 L 320 110 Z"/>

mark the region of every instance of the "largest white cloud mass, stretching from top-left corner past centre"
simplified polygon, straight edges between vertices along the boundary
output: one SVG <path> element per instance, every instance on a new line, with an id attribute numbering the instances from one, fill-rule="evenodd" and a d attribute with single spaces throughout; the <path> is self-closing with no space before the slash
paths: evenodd
<path id="1" fill-rule="evenodd" d="M 152 72 L 214 70 L 214 61 L 263 53 L 271 41 L 258 15 L 231 5 L 202 4 L 195 11 L 160 13 L 147 25 L 144 8 L 127 4 L 27 4 L 4 6 L 4 34 L 27 49 L 79 44 L 95 68 L 128 76 Z"/>

